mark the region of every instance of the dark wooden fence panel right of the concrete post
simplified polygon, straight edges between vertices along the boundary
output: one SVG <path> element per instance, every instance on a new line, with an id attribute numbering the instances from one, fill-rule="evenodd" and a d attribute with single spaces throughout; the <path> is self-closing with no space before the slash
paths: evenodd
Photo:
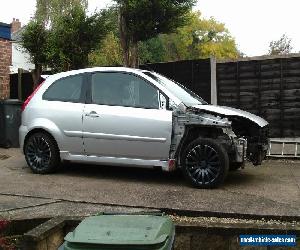
<path id="1" fill-rule="evenodd" d="M 271 137 L 300 136 L 300 57 L 217 64 L 218 104 L 264 117 Z"/>

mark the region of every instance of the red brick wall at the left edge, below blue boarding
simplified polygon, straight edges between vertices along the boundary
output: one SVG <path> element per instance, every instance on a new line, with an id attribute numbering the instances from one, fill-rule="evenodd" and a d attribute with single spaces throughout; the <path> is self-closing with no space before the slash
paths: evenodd
<path id="1" fill-rule="evenodd" d="M 11 41 L 0 38 L 0 99 L 9 97 L 9 66 L 11 65 Z"/>

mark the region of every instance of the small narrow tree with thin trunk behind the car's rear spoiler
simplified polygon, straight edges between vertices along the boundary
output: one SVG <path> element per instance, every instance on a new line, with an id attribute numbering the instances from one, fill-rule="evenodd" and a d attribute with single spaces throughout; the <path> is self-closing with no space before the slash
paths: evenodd
<path id="1" fill-rule="evenodd" d="M 43 65 L 47 63 L 47 40 L 49 32 L 44 25 L 32 20 L 22 33 L 22 47 L 30 55 L 35 69 L 32 71 L 34 88 L 40 81 Z"/>

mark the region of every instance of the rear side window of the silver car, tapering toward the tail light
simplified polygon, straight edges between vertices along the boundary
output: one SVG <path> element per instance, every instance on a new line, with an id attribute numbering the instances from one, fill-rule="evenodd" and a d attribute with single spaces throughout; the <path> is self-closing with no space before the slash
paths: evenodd
<path id="1" fill-rule="evenodd" d="M 44 93 L 48 101 L 79 102 L 83 75 L 68 76 L 55 81 Z"/>

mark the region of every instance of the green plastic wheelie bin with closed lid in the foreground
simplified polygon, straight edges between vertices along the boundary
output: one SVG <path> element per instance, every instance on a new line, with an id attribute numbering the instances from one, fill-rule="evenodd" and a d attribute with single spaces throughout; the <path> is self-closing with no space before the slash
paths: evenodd
<path id="1" fill-rule="evenodd" d="M 175 227 L 164 215 L 98 215 L 83 220 L 59 250 L 171 250 Z"/>

